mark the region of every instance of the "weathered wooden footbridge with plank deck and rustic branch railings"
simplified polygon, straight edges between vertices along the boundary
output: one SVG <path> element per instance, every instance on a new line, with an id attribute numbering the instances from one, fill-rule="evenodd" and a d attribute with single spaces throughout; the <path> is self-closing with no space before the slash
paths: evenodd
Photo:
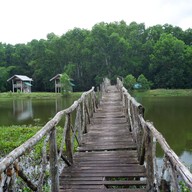
<path id="1" fill-rule="evenodd" d="M 64 121 L 62 119 L 64 118 Z M 64 122 L 64 126 L 60 125 Z M 164 151 L 158 170 L 156 143 Z M 35 151 L 41 148 L 41 152 Z M 105 79 L 58 112 L 32 138 L 0 161 L 0 192 L 192 191 L 180 162 L 144 108 L 117 79 Z"/>

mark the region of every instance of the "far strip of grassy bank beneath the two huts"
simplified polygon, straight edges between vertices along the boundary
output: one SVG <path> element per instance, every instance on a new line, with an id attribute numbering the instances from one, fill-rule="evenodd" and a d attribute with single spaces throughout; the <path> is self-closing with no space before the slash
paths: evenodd
<path id="1" fill-rule="evenodd" d="M 69 97 L 80 97 L 82 92 L 73 92 L 69 94 Z M 62 97 L 61 93 L 53 92 L 32 92 L 32 93 L 13 93 L 5 92 L 0 93 L 0 99 L 11 99 L 11 98 L 40 98 L 40 99 L 51 99 Z"/>

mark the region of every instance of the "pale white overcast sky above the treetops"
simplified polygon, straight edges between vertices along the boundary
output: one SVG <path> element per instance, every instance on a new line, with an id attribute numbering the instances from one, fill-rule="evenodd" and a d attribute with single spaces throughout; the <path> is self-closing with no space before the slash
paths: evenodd
<path id="1" fill-rule="evenodd" d="M 27 43 L 100 22 L 192 28 L 191 0 L 0 0 L 0 42 Z"/>

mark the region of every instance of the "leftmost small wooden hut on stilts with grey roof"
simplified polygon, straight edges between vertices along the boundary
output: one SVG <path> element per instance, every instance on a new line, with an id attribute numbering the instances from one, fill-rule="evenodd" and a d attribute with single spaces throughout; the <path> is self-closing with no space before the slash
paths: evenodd
<path id="1" fill-rule="evenodd" d="M 13 92 L 24 92 L 30 93 L 31 92 L 31 82 L 33 81 L 31 78 L 25 75 L 14 75 L 9 78 L 7 81 L 12 81 L 12 90 Z"/>

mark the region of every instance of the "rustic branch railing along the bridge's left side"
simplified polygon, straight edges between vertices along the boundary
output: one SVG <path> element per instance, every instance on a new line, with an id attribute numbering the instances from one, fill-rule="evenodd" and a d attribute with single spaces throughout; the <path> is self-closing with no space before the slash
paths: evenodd
<path id="1" fill-rule="evenodd" d="M 83 93 L 71 107 L 58 112 L 33 137 L 2 159 L 0 192 L 18 191 L 19 182 L 24 182 L 32 191 L 44 191 L 46 177 L 50 177 L 50 183 L 47 184 L 51 185 L 49 191 L 59 191 L 59 173 L 62 166 L 73 163 L 73 152 L 81 143 L 82 134 L 87 132 L 87 125 L 96 106 L 93 87 Z M 59 123 L 64 124 L 63 128 Z M 38 146 L 41 156 L 37 157 L 34 149 Z M 28 172 L 35 173 L 32 175 Z"/>

